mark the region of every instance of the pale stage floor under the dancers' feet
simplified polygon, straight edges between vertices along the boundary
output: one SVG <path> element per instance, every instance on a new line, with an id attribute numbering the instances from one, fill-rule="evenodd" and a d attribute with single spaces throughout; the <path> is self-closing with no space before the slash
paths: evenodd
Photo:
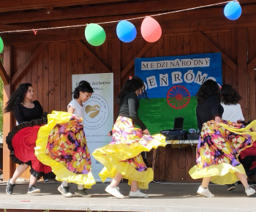
<path id="1" fill-rule="evenodd" d="M 147 199 L 129 198 L 129 186 L 120 183 L 120 191 L 126 195 L 117 199 L 105 192 L 108 183 L 97 183 L 89 189 L 91 198 L 63 197 L 57 188 L 57 181 L 38 182 L 41 193 L 26 194 L 28 182 L 17 183 L 12 195 L 5 193 L 6 181 L 0 182 L 0 211 L 7 212 L 61 212 L 61 211 L 256 211 L 256 194 L 246 197 L 242 185 L 227 192 L 227 186 L 211 184 L 209 189 L 214 198 L 199 197 L 196 193 L 200 182 L 150 183 Z M 69 184 L 74 193 L 75 184 Z M 256 186 L 254 186 L 255 188 Z"/>

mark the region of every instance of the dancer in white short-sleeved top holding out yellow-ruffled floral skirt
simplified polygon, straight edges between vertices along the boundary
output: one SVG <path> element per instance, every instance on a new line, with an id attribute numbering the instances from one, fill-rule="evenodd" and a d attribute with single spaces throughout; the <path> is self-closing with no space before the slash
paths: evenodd
<path id="1" fill-rule="evenodd" d="M 83 131 L 83 102 L 90 99 L 93 88 L 85 80 L 80 81 L 69 102 L 68 113 L 53 111 L 48 114 L 48 124 L 41 126 L 37 135 L 35 154 L 40 162 L 48 164 L 56 180 L 61 181 L 58 191 L 71 197 L 68 183 L 76 183 L 75 194 L 91 197 L 86 189 L 94 185 L 91 173 L 91 156 Z"/>

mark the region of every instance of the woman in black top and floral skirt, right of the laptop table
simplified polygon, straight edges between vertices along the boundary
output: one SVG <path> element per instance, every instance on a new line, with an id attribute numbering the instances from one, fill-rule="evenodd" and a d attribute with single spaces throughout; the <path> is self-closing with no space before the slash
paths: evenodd
<path id="1" fill-rule="evenodd" d="M 196 96 L 197 126 L 201 132 L 197 144 L 197 165 L 189 170 L 189 175 L 194 179 L 203 178 L 197 194 L 214 197 L 208 189 L 210 181 L 231 184 L 238 180 L 243 184 L 247 196 L 255 194 L 255 189 L 247 183 L 238 154 L 256 139 L 256 122 L 243 128 L 242 124 L 222 120 L 219 86 L 214 80 L 206 80 Z"/>

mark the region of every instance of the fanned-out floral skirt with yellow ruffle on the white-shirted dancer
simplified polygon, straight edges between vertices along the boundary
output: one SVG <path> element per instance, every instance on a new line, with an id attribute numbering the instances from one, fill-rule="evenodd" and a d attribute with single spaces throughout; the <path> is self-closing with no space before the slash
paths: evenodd
<path id="1" fill-rule="evenodd" d="M 95 183 L 83 118 L 79 116 L 58 111 L 48 114 L 48 124 L 38 132 L 35 155 L 52 168 L 58 181 L 77 183 L 86 189 Z"/>

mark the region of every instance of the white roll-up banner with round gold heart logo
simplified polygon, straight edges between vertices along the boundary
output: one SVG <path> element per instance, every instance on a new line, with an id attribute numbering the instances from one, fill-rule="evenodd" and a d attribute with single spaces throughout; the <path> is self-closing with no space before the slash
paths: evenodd
<path id="1" fill-rule="evenodd" d="M 90 154 L 111 141 L 108 132 L 113 126 L 113 73 L 72 75 L 72 91 L 81 80 L 86 80 L 94 88 L 91 98 L 86 101 L 83 129 Z M 101 182 L 99 172 L 103 165 L 91 156 L 91 169 L 94 179 Z"/>

